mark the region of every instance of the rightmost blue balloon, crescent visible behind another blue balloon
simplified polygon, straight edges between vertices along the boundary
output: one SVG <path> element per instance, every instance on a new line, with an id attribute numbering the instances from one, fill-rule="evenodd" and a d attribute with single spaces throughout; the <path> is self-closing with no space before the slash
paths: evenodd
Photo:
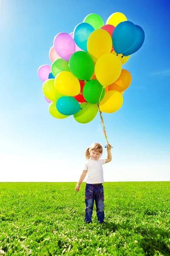
<path id="1" fill-rule="evenodd" d="M 135 52 L 137 52 L 141 47 L 142 44 L 144 43 L 144 30 L 142 27 L 135 25 L 136 27 L 136 38 L 133 43 L 133 45 L 128 49 L 126 52 L 122 52 L 123 55 L 128 56 L 131 55 Z"/>

